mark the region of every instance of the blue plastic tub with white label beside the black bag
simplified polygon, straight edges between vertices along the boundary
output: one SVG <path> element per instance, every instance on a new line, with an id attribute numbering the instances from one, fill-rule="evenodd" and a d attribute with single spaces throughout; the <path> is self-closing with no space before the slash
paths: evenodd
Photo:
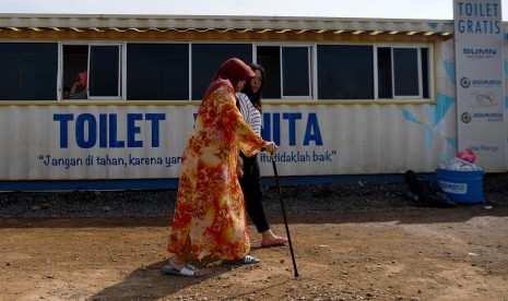
<path id="1" fill-rule="evenodd" d="M 456 203 L 483 202 L 483 170 L 457 171 L 436 169 L 436 179 L 445 193 Z"/>

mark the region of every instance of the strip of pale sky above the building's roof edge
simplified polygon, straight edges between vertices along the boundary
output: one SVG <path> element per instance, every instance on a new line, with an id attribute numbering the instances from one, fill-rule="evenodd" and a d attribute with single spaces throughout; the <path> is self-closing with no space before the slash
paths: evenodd
<path id="1" fill-rule="evenodd" d="M 501 0 L 508 21 L 508 0 Z M 452 20 L 452 0 L 0 0 L 2 13 Z"/>

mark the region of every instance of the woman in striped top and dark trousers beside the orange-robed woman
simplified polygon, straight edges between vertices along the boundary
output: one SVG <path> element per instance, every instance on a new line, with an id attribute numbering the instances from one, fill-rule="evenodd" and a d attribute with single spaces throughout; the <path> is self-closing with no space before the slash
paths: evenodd
<path id="1" fill-rule="evenodd" d="M 261 93 L 263 91 L 264 70 L 259 64 L 249 64 L 256 76 L 250 79 L 240 93 L 237 93 L 240 112 L 244 120 L 257 133 L 261 134 Z M 275 236 L 267 221 L 267 215 L 261 202 L 261 173 L 257 154 L 248 158 L 240 152 L 244 162 L 243 177 L 239 178 L 244 192 L 247 213 L 261 233 L 261 246 L 281 245 L 287 243 L 287 238 Z"/>

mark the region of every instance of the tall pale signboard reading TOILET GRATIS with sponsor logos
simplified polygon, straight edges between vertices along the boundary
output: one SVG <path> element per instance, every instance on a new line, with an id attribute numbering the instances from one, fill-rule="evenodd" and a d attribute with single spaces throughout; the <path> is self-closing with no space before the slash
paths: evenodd
<path id="1" fill-rule="evenodd" d="M 507 170 L 499 0 L 454 0 L 458 152 L 488 172 Z"/>

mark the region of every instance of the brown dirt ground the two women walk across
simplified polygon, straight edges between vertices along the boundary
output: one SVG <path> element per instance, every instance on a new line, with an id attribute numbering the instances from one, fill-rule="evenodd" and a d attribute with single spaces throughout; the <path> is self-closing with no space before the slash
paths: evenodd
<path id="1" fill-rule="evenodd" d="M 508 208 L 288 213 L 290 246 L 161 273 L 168 218 L 0 219 L 1 300 L 508 300 Z M 284 233 L 281 216 L 272 228 Z"/>

